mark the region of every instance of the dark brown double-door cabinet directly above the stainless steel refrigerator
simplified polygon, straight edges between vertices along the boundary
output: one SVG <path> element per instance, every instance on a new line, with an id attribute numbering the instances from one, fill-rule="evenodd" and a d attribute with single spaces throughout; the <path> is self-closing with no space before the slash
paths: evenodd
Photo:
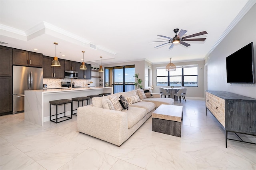
<path id="1" fill-rule="evenodd" d="M 43 55 L 21 49 L 12 49 L 12 64 L 42 68 Z"/>

